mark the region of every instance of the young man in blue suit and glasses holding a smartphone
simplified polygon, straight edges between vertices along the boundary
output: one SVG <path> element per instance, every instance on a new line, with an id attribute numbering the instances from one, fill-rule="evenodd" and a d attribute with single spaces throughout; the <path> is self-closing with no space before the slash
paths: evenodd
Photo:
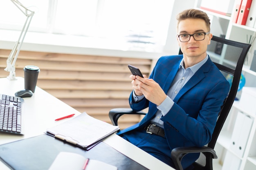
<path id="1" fill-rule="evenodd" d="M 183 55 L 160 57 L 149 78 L 130 75 L 130 107 L 148 107 L 148 114 L 118 135 L 170 166 L 173 148 L 209 143 L 229 91 L 229 83 L 207 55 L 211 38 L 207 14 L 185 10 L 177 15 L 177 42 Z M 198 157 L 186 155 L 183 168 Z"/>

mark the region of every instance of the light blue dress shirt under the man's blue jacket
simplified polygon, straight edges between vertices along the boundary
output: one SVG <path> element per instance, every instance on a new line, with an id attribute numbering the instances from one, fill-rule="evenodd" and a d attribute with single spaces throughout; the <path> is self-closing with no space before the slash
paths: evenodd
<path id="1" fill-rule="evenodd" d="M 155 124 L 160 127 L 164 127 L 164 122 L 160 120 L 162 116 L 165 116 L 168 111 L 172 108 L 174 102 L 173 99 L 176 97 L 177 93 L 179 93 L 180 89 L 189 81 L 189 79 L 194 75 L 196 71 L 208 60 L 208 55 L 202 60 L 201 62 L 188 67 L 184 68 L 184 60 L 180 62 L 179 70 L 171 84 L 171 88 L 167 92 L 166 99 L 157 106 L 157 113 L 156 116 L 151 120 L 152 124 Z M 134 102 L 139 102 L 141 99 L 144 98 L 144 95 L 136 96 L 135 92 L 133 91 L 132 94 Z"/>

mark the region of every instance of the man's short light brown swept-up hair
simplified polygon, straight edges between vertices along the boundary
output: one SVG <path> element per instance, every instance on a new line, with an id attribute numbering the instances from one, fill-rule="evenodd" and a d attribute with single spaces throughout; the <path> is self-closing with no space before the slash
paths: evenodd
<path id="1" fill-rule="evenodd" d="M 179 13 L 177 15 L 176 18 L 178 20 L 177 28 L 178 28 L 178 25 L 179 25 L 180 21 L 186 20 L 188 18 L 194 18 L 194 19 L 202 19 L 202 20 L 204 20 L 204 22 L 205 22 L 205 24 L 207 26 L 207 29 L 208 29 L 207 31 L 210 31 L 210 24 L 211 23 L 210 23 L 210 19 L 209 19 L 208 15 L 205 12 L 200 11 L 198 9 L 187 9 L 185 11 L 182 11 L 181 13 Z"/>

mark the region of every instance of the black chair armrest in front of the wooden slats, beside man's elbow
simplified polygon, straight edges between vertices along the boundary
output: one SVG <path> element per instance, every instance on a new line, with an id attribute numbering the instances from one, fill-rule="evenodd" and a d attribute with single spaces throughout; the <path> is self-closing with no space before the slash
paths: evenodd
<path id="1" fill-rule="evenodd" d="M 131 108 L 113 108 L 109 111 L 108 116 L 112 122 L 113 125 L 117 126 L 117 121 L 119 117 L 121 117 L 124 114 L 129 114 L 129 115 L 146 115 L 145 112 L 139 111 L 135 112 Z"/>

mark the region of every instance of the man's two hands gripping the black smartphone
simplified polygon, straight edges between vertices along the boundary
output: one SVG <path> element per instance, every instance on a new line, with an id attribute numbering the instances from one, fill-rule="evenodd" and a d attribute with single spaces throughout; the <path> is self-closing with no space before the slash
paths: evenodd
<path id="1" fill-rule="evenodd" d="M 135 94 L 138 96 L 144 95 L 150 102 L 159 106 L 166 99 L 166 94 L 157 82 L 146 78 L 146 75 L 143 76 L 144 78 L 130 75 Z"/>

